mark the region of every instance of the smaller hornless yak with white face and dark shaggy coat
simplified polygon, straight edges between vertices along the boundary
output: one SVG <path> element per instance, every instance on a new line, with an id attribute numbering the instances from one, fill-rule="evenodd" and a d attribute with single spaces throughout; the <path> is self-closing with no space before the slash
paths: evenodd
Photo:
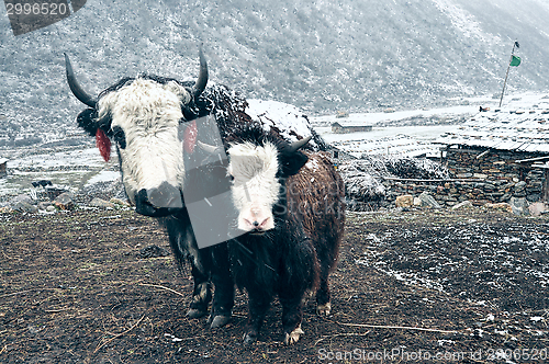
<path id="1" fill-rule="evenodd" d="M 330 310 L 328 274 L 345 223 L 344 183 L 324 152 L 301 151 L 272 130 L 239 130 L 228 140 L 228 172 L 238 227 L 229 241 L 236 284 L 248 293 L 245 342 L 254 342 L 276 295 L 287 344 L 303 333 L 303 298 L 316 293 L 317 312 Z"/>

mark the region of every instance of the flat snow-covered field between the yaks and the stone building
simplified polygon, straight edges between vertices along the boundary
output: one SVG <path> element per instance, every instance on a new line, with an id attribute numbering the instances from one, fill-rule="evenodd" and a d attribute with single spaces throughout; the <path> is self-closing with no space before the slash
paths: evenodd
<path id="1" fill-rule="evenodd" d="M 437 157 L 440 145 L 434 144 L 441 135 L 459 128 L 461 124 L 479 113 L 479 107 L 502 112 L 537 109 L 546 94 L 524 93 L 507 95 L 498 107 L 500 99 L 471 98 L 467 105 L 432 110 L 410 110 L 392 113 L 351 114 L 348 117 L 335 115 L 313 117 L 315 129 L 329 144 L 355 156 L 399 155 L 408 157 Z M 332 123 L 343 126 L 371 125 L 371 132 L 334 134 Z"/>

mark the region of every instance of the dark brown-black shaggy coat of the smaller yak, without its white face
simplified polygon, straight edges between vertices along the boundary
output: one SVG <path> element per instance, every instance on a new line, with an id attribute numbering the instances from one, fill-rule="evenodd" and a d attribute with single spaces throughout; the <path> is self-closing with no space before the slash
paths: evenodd
<path id="1" fill-rule="evenodd" d="M 262 235 L 248 232 L 228 243 L 236 284 L 249 298 L 245 343 L 257 340 L 269 305 L 278 296 L 284 342 L 292 344 L 303 333 L 307 292 L 316 293 L 317 312 L 329 314 L 328 274 L 344 234 L 344 182 L 324 152 L 289 152 L 287 141 L 254 127 L 229 140 L 232 146 L 242 143 L 277 147 L 280 183 L 272 207 L 274 228 Z"/>

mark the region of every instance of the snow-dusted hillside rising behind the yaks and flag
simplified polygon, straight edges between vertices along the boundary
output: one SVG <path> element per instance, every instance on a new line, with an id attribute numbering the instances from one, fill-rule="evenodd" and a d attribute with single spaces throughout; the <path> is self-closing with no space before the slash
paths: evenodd
<path id="1" fill-rule="evenodd" d="M 509 92 L 548 90 L 547 19 L 545 0 L 89 0 L 15 37 L 3 15 L 0 147 L 79 143 L 82 107 L 65 83 L 63 52 L 94 94 L 143 71 L 193 78 L 203 43 L 212 80 L 248 98 L 309 114 L 405 110 L 497 93 L 514 41 L 523 64 Z"/>

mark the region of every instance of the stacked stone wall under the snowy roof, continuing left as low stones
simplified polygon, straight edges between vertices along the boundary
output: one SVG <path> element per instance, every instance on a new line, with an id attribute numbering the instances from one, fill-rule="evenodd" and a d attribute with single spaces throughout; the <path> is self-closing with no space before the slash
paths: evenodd
<path id="1" fill-rule="evenodd" d="M 418 196 L 426 192 L 441 206 L 453 206 L 463 201 L 474 205 L 509 202 L 525 198 L 529 203 L 548 202 L 549 171 L 533 168 L 516 160 L 542 155 L 512 151 L 491 151 L 481 158 L 483 149 L 449 149 L 446 160 L 452 181 L 417 182 L 385 180 L 385 203 L 394 205 L 397 196 Z M 456 181 L 459 180 L 459 181 Z M 384 205 L 381 203 L 380 205 Z"/>

